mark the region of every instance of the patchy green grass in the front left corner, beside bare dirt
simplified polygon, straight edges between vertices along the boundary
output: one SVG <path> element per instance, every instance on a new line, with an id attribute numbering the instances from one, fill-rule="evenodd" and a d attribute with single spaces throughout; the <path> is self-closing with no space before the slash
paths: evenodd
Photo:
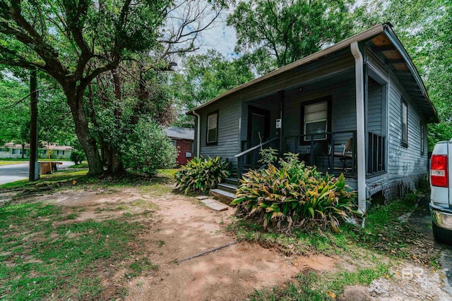
<path id="1" fill-rule="evenodd" d="M 67 222 L 75 217 L 46 203 L 0 208 L 1 298 L 100 298 L 99 274 L 113 274 L 110 264 L 129 257 L 141 226 L 125 218 Z M 127 269 L 136 274 L 157 266 L 140 259 Z"/>

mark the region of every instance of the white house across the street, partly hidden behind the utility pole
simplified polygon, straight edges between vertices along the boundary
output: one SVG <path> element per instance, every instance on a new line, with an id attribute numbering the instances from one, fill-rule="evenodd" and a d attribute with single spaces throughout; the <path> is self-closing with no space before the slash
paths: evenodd
<path id="1" fill-rule="evenodd" d="M 13 142 L 6 143 L 3 147 L 0 147 L 0 158 L 6 159 L 17 159 L 22 158 L 22 152 L 25 150 L 25 154 L 23 154 L 24 158 L 28 158 L 30 156 L 30 145 L 27 143 L 24 148 L 22 145 L 17 145 Z M 72 147 L 66 145 L 49 145 L 47 149 L 47 145 L 44 144 L 43 147 L 39 147 L 37 150 L 38 157 L 46 157 L 48 156 L 48 150 L 50 151 L 50 155 L 52 159 L 71 159 L 71 152 L 73 150 Z"/>

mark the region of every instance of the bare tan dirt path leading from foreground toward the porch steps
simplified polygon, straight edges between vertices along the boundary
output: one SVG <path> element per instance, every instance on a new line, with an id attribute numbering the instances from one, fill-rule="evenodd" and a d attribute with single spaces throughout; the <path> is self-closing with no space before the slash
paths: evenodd
<path id="1" fill-rule="evenodd" d="M 236 238 L 224 226 L 233 209 L 212 211 L 196 204 L 194 198 L 179 195 L 152 202 L 160 208 L 160 222 L 144 239 L 146 249 L 157 254 L 152 258 L 160 270 L 157 277 L 130 281 L 126 300 L 242 300 L 254 289 L 283 285 L 309 267 L 247 242 L 176 264 L 177 260 L 234 241 Z M 158 247 L 159 241 L 164 245 Z M 321 259 L 316 262 L 323 269 Z"/>

